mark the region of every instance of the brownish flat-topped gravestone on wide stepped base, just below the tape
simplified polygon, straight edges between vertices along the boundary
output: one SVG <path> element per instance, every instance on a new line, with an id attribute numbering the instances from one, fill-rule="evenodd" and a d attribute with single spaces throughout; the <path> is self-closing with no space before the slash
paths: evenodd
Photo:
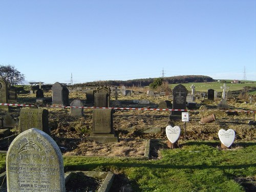
<path id="1" fill-rule="evenodd" d="M 118 142 L 113 127 L 112 109 L 94 109 L 93 110 L 93 129 L 88 140 L 97 141 L 99 143 Z"/>

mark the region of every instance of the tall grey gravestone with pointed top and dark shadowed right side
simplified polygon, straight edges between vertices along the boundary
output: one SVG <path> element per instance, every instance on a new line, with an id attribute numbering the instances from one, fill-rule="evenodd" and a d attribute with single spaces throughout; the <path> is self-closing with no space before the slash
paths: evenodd
<path id="1" fill-rule="evenodd" d="M 52 86 L 52 104 L 69 106 L 69 90 L 59 82 Z"/>

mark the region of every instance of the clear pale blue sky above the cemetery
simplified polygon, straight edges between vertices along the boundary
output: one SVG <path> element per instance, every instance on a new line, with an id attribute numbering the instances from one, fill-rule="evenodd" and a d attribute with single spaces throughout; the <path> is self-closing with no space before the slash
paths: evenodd
<path id="1" fill-rule="evenodd" d="M 256 80 L 256 1 L 0 0 L 0 64 L 28 82 Z"/>

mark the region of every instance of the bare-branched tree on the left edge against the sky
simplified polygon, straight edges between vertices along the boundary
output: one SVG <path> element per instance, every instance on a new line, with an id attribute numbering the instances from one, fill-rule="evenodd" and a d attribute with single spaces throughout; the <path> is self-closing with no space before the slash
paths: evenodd
<path id="1" fill-rule="evenodd" d="M 18 84 L 25 80 L 25 75 L 20 73 L 14 66 L 0 65 L 0 77 L 7 81 L 8 87 Z"/>

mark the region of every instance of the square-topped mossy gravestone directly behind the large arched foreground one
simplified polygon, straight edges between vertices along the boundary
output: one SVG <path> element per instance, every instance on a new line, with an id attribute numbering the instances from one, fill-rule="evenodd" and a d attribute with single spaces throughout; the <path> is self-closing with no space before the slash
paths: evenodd
<path id="1" fill-rule="evenodd" d="M 50 135 L 48 110 L 44 109 L 21 109 L 19 114 L 20 133 L 36 128 Z"/>

